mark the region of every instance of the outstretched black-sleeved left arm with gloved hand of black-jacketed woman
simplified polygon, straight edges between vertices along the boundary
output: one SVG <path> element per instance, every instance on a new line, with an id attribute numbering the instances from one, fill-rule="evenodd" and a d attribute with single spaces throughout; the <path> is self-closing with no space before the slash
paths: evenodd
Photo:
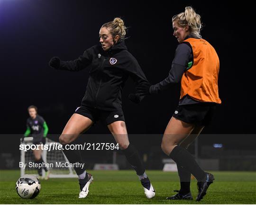
<path id="1" fill-rule="evenodd" d="M 49 66 L 59 70 L 79 71 L 86 68 L 92 61 L 93 47 L 84 51 L 82 56 L 79 56 L 76 60 L 63 61 L 59 57 L 53 57 L 49 61 Z"/>

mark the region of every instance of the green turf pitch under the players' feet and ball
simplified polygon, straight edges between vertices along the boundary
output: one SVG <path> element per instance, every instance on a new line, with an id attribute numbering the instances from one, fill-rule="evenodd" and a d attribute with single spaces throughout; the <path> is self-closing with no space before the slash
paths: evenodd
<path id="1" fill-rule="evenodd" d="M 179 188 L 175 172 L 147 171 L 156 190 L 147 199 L 134 171 L 89 171 L 94 178 L 90 193 L 79 199 L 77 179 L 41 180 L 41 191 L 35 199 L 22 199 L 15 190 L 19 171 L 0 171 L 0 204 L 255 204 L 256 173 L 212 171 L 215 181 L 201 202 L 196 202 L 196 181 L 192 179 L 194 200 L 165 200 Z"/>

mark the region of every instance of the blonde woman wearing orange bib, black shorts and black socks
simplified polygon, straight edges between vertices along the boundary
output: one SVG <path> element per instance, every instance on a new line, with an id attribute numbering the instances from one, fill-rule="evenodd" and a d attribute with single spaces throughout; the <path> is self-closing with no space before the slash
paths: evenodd
<path id="1" fill-rule="evenodd" d="M 167 199 L 192 199 L 190 179 L 193 174 L 198 181 L 196 200 L 200 201 L 214 176 L 200 168 L 187 148 L 210 123 L 216 105 L 221 103 L 219 57 L 212 45 L 202 39 L 201 17 L 192 7 L 186 7 L 184 12 L 175 15 L 172 22 L 173 35 L 179 44 L 169 75 L 158 84 L 139 86 L 138 94 L 158 94 L 181 82 L 179 105 L 165 129 L 161 145 L 164 153 L 177 164 L 181 188 Z"/>

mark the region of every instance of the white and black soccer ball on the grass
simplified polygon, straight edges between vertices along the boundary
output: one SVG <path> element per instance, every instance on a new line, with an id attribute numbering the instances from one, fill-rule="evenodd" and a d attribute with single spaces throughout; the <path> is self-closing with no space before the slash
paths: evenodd
<path id="1" fill-rule="evenodd" d="M 41 189 L 40 181 L 35 175 L 25 174 L 16 182 L 16 191 L 21 198 L 35 198 Z"/>

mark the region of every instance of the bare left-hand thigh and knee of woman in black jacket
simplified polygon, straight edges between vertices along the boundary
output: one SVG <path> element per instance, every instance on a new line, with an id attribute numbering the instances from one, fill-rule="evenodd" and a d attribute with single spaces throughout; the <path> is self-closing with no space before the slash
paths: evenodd
<path id="1" fill-rule="evenodd" d="M 74 113 L 59 137 L 60 143 L 69 144 L 73 142 L 82 132 L 88 130 L 92 124 L 93 121 L 91 119 Z"/>

